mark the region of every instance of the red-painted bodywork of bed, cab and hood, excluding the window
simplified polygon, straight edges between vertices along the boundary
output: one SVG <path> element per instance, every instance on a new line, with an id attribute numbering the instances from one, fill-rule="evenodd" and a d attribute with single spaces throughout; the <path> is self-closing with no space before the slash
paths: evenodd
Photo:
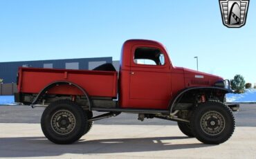
<path id="1" fill-rule="evenodd" d="M 165 56 L 165 64 L 135 64 L 134 50 L 138 47 L 158 48 Z M 116 97 L 118 85 L 121 108 L 167 109 L 170 100 L 182 89 L 212 86 L 220 79 L 215 75 L 172 66 L 167 50 L 157 41 L 128 40 L 122 46 L 119 84 L 117 72 L 19 68 L 18 88 L 21 93 L 39 93 L 47 84 L 64 80 L 81 86 L 91 96 Z M 71 86 L 55 87 L 49 93 L 82 95 Z"/>

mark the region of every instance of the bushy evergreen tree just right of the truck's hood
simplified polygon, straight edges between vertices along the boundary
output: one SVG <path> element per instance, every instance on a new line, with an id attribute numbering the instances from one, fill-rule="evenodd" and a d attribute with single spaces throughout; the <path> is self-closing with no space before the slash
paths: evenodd
<path id="1" fill-rule="evenodd" d="M 231 79 L 231 88 L 235 90 L 235 93 L 244 93 L 244 86 L 246 81 L 241 75 L 235 75 L 234 79 Z"/>

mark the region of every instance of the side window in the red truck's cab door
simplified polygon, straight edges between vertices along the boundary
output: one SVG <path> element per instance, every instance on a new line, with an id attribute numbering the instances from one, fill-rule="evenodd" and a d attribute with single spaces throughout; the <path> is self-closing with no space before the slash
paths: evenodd
<path id="1" fill-rule="evenodd" d="M 140 47 L 134 53 L 134 63 L 145 65 L 164 65 L 165 56 L 157 48 Z"/>

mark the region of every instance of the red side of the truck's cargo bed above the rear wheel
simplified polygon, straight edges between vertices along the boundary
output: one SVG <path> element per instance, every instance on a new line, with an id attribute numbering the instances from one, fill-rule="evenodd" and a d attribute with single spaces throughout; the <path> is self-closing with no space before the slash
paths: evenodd
<path id="1" fill-rule="evenodd" d="M 116 97 L 118 73 L 116 71 L 88 71 L 53 68 L 19 68 L 19 93 L 39 93 L 48 84 L 56 81 L 73 82 L 84 88 L 91 97 Z M 77 88 L 59 86 L 48 94 L 82 95 Z"/>

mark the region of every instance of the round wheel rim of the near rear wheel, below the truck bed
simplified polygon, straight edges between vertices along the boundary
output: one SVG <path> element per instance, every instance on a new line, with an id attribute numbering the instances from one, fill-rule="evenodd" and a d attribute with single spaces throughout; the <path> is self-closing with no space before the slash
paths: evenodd
<path id="1" fill-rule="evenodd" d="M 53 114 L 51 127 L 55 133 L 66 135 L 75 129 L 75 115 L 68 110 L 60 110 Z"/>

